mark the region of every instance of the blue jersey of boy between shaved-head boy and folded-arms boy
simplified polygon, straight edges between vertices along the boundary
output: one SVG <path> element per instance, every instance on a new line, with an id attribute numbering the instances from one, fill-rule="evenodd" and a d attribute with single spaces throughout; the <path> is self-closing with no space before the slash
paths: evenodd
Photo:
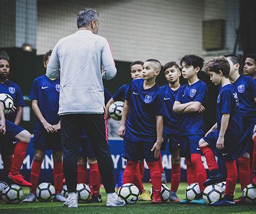
<path id="1" fill-rule="evenodd" d="M 161 88 L 163 94 L 163 108 L 165 108 L 165 120 L 163 121 L 163 134 L 178 134 L 178 115 L 173 111 L 178 90 L 173 91 L 169 84 L 163 85 Z"/>

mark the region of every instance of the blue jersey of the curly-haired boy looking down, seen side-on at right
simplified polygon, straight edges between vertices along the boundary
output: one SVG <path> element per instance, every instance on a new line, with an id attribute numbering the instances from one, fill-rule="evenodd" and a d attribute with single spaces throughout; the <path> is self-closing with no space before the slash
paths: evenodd
<path id="1" fill-rule="evenodd" d="M 220 131 L 221 118 L 223 114 L 229 114 L 230 120 L 228 122 L 225 136 L 237 136 L 239 141 L 242 134 L 242 118 L 239 111 L 239 99 L 237 92 L 233 85 L 227 84 L 220 88 L 217 97 L 217 129 Z"/>

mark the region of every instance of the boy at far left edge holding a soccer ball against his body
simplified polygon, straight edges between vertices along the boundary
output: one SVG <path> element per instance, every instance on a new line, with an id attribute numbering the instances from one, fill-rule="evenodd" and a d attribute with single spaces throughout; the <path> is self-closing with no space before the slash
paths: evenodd
<path id="1" fill-rule="evenodd" d="M 10 59 L 7 53 L 0 52 L 0 93 L 9 94 L 10 96 L 12 96 L 14 106 L 17 108 L 17 110 L 5 115 L 5 118 L 10 122 L 13 122 L 14 124 L 18 125 L 21 121 L 22 108 L 23 106 L 25 106 L 25 102 L 20 87 L 16 83 L 13 83 L 13 81 L 10 81 L 8 79 L 10 72 L 9 61 Z M 9 142 L 5 142 L 2 144 L 2 146 L 0 146 L 0 151 L 3 160 L 3 169 L 6 173 L 10 172 L 14 147 L 15 144 L 13 143 L 12 139 L 10 139 Z"/>

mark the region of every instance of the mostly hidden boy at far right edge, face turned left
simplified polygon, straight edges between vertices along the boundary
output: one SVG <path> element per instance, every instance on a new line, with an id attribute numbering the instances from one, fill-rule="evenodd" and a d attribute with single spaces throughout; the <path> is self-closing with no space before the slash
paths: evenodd
<path id="1" fill-rule="evenodd" d="M 246 60 L 244 61 L 243 74 L 246 76 L 253 77 L 254 81 L 256 81 L 256 54 L 251 53 L 246 56 Z M 256 100 L 255 100 L 256 102 Z M 251 183 L 256 186 L 256 124 L 253 129 L 253 153 L 252 159 L 253 162 L 251 164 Z"/>

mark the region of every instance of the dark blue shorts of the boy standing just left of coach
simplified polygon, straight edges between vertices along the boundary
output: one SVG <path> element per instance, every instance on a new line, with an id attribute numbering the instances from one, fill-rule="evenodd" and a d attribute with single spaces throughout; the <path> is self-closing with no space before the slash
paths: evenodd
<path id="1" fill-rule="evenodd" d="M 60 140 L 60 131 L 56 133 L 35 133 L 33 138 L 33 147 L 39 150 L 62 150 Z"/>

